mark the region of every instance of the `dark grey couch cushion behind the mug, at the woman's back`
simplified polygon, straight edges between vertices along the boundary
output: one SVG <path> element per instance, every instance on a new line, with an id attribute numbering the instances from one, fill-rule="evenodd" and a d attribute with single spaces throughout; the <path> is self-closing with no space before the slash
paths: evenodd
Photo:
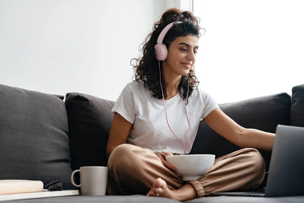
<path id="1" fill-rule="evenodd" d="M 71 167 L 106 166 L 105 155 L 114 101 L 82 93 L 67 93 Z M 75 174 L 79 182 L 79 174 Z"/>

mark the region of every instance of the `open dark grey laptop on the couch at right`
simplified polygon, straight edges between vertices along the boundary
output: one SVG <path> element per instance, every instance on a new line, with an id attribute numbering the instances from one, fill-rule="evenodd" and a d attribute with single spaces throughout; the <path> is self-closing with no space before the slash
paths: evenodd
<path id="1" fill-rule="evenodd" d="M 304 127 L 278 125 L 264 191 L 214 192 L 211 196 L 304 195 Z"/>

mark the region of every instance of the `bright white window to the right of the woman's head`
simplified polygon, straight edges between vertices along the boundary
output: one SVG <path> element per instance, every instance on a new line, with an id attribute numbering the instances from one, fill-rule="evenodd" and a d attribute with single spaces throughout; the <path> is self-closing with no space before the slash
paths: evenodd
<path id="1" fill-rule="evenodd" d="M 264 96 L 304 83 L 302 1 L 193 0 L 206 33 L 196 75 L 217 103 Z"/>

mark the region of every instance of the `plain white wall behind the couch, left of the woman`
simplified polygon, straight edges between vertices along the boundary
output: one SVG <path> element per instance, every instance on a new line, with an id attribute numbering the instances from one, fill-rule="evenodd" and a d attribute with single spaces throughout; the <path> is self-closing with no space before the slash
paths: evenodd
<path id="1" fill-rule="evenodd" d="M 162 0 L 0 1 L 0 83 L 116 100 Z"/>

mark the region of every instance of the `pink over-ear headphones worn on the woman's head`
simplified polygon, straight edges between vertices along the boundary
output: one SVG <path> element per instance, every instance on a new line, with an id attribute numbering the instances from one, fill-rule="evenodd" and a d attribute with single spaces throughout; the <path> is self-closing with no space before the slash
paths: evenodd
<path id="1" fill-rule="evenodd" d="M 168 49 L 167 49 L 166 45 L 163 44 L 163 40 L 164 40 L 164 38 L 166 36 L 166 33 L 169 31 L 169 29 L 174 24 L 178 24 L 178 23 L 182 23 L 182 22 L 181 21 L 171 22 L 160 33 L 160 35 L 159 35 L 159 37 L 157 39 L 157 44 L 154 46 L 155 57 L 156 57 L 157 60 L 165 60 L 167 58 Z"/>

